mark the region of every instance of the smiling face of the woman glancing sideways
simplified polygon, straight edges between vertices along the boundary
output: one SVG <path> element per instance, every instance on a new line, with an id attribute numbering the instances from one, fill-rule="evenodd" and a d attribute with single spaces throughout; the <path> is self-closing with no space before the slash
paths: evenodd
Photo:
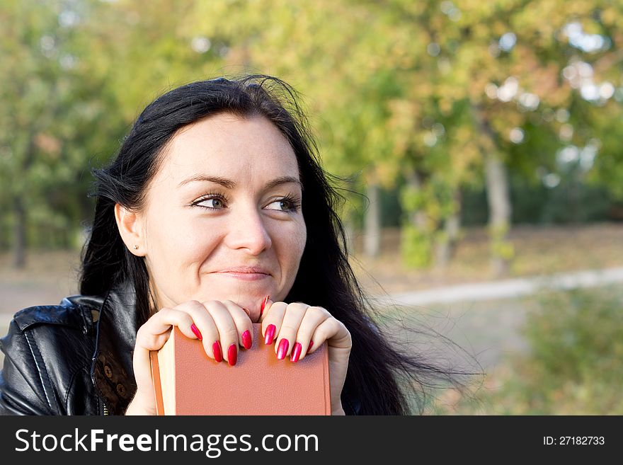
<path id="1" fill-rule="evenodd" d="M 285 299 L 307 230 L 297 159 L 265 117 L 230 113 L 171 139 L 137 214 L 159 308 L 232 300 L 258 320 Z"/>

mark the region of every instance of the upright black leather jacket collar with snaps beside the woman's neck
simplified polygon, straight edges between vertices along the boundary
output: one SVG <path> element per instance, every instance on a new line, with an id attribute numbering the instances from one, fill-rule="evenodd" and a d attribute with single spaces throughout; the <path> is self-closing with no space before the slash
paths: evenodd
<path id="1" fill-rule="evenodd" d="M 108 413 L 123 415 L 137 386 L 132 367 L 138 325 L 136 294 L 129 283 L 108 292 L 96 322 L 91 379 Z"/>

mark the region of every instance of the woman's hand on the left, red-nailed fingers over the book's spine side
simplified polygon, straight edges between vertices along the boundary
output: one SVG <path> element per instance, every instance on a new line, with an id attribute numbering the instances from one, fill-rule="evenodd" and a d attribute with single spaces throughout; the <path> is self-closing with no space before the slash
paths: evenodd
<path id="1" fill-rule="evenodd" d="M 160 350 L 178 326 L 188 338 L 200 339 L 208 357 L 236 364 L 239 346 L 251 348 L 253 326 L 248 310 L 231 300 L 184 302 L 157 311 L 137 332 L 132 364 L 137 391 L 126 415 L 156 415 L 156 398 L 149 351 Z"/>

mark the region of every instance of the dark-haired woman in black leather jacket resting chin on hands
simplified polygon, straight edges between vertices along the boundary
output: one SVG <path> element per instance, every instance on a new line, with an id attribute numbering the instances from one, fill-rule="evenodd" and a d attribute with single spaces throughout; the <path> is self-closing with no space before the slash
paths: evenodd
<path id="1" fill-rule="evenodd" d="M 406 413 L 398 373 L 435 369 L 367 317 L 315 154 L 292 88 L 268 76 L 148 105 L 95 171 L 81 295 L 18 312 L 1 342 L 0 411 L 154 414 L 149 350 L 172 326 L 235 365 L 260 321 L 280 360 L 326 341 L 334 415 Z"/>

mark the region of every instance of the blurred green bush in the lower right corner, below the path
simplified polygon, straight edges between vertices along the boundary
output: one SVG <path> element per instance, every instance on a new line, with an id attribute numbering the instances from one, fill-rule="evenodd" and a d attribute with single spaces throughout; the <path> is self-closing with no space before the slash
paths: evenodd
<path id="1" fill-rule="evenodd" d="M 544 292 L 527 315 L 527 351 L 490 374 L 455 413 L 622 415 L 623 293 Z M 438 413 L 450 413 L 438 404 Z"/>

